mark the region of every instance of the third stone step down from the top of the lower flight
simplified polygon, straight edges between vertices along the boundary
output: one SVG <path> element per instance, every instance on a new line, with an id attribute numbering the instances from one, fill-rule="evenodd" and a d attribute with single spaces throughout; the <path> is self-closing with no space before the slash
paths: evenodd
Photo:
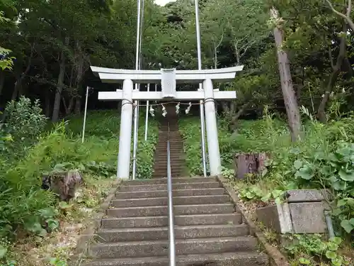
<path id="1" fill-rule="evenodd" d="M 156 188 L 155 188 L 156 189 Z M 202 196 L 202 195 L 222 195 L 225 190 L 222 187 L 207 189 L 173 189 L 173 196 Z M 138 192 L 116 192 L 115 199 L 139 199 L 139 198 L 157 198 L 167 196 L 167 186 L 160 190 L 145 190 Z"/>

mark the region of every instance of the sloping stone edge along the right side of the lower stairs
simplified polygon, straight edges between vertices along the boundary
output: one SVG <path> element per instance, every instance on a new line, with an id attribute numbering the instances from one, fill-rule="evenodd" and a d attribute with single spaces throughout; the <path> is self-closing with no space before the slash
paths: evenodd
<path id="1" fill-rule="evenodd" d="M 288 262 L 287 258 L 282 255 L 280 250 L 278 248 L 273 247 L 269 243 L 267 243 L 267 240 L 265 240 L 265 236 L 261 230 L 259 230 L 255 223 L 251 221 L 246 216 L 246 209 L 244 209 L 241 204 L 237 204 L 239 201 L 239 196 L 237 196 L 236 192 L 232 188 L 232 186 L 229 184 L 227 179 L 223 177 L 222 175 L 217 176 L 217 181 L 219 184 L 225 189 L 227 194 L 230 196 L 230 200 L 234 204 L 234 207 L 239 214 L 241 214 L 242 221 L 246 223 L 247 226 L 249 226 L 249 232 L 251 235 L 254 235 L 256 239 L 258 240 L 258 244 L 261 245 L 261 247 L 265 250 L 265 253 L 267 253 L 270 261 L 270 265 L 272 266 L 289 266 L 290 263 Z"/>

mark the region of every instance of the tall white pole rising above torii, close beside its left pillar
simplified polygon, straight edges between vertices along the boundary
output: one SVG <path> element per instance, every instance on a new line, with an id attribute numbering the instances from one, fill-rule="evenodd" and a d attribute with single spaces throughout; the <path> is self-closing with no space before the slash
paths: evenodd
<path id="1" fill-rule="evenodd" d="M 139 55 L 140 55 L 140 16 L 142 0 L 137 0 L 137 51 L 135 55 L 135 70 L 139 70 Z M 138 84 L 135 84 L 135 89 L 139 90 Z M 137 168 L 137 131 L 138 131 L 138 114 L 139 114 L 139 101 L 135 101 L 134 109 L 134 140 L 133 140 L 133 165 L 132 165 L 132 179 L 135 179 L 135 172 Z"/>

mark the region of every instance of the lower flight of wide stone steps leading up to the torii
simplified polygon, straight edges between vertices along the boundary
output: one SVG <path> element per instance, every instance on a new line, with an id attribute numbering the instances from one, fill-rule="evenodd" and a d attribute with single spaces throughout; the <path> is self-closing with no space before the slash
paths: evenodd
<path id="1" fill-rule="evenodd" d="M 166 178 L 123 182 L 86 265 L 168 265 L 166 189 Z M 178 266 L 268 266 L 216 178 L 173 178 L 173 204 Z"/>

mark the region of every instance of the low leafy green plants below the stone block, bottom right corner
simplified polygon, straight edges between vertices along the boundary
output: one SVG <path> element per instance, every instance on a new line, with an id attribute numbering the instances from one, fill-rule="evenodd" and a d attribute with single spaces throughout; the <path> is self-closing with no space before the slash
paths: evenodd
<path id="1" fill-rule="evenodd" d="M 331 238 L 329 241 L 321 240 L 321 235 L 294 235 L 290 236 L 294 244 L 285 247 L 291 257 L 298 257 L 300 265 L 318 265 L 318 261 L 329 262 L 331 266 L 349 265 L 342 255 L 338 254 L 343 240 Z"/>

